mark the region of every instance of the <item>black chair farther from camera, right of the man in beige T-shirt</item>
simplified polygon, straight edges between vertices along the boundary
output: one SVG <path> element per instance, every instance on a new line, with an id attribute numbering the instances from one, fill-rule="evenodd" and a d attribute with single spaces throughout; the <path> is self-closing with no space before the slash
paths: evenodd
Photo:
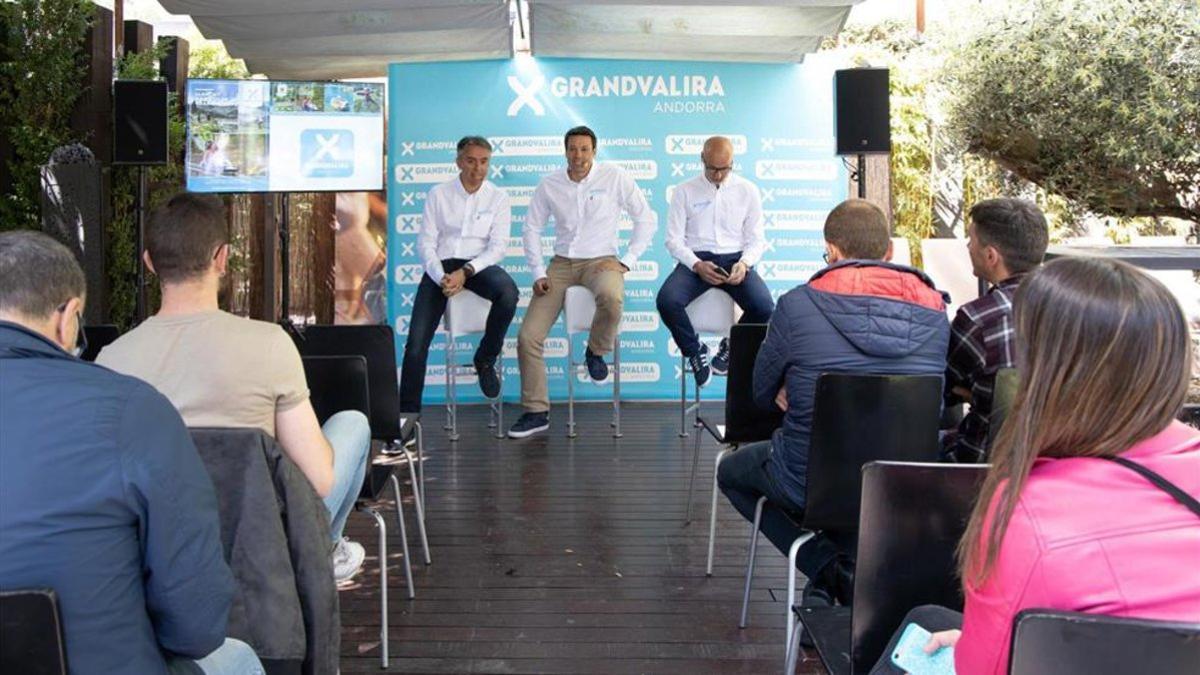
<path id="1" fill-rule="evenodd" d="M 292 333 L 301 357 L 338 357 L 358 354 L 367 362 L 370 390 L 371 437 L 388 444 L 395 456 L 408 465 L 416 508 L 416 531 L 421 538 L 425 565 L 430 565 L 428 537 L 425 533 L 425 442 L 420 423 L 416 426 L 416 456 L 402 441 L 400 418 L 400 383 L 396 380 L 396 344 L 391 327 L 373 325 L 307 325 Z M 394 466 L 373 461 L 367 472 L 372 492 L 394 478 Z"/>

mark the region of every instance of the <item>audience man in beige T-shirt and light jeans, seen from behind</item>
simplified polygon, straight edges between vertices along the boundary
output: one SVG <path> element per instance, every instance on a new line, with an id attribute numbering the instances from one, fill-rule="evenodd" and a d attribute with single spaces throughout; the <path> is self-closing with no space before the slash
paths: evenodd
<path id="1" fill-rule="evenodd" d="M 144 261 L 162 285 L 162 309 L 106 347 L 96 363 L 154 384 L 188 426 L 258 428 L 274 436 L 329 509 L 334 575 L 362 566 L 342 537 L 362 486 L 371 429 L 344 411 L 318 425 L 292 339 L 274 323 L 221 311 L 229 243 L 214 197 L 180 193 L 146 225 Z"/>

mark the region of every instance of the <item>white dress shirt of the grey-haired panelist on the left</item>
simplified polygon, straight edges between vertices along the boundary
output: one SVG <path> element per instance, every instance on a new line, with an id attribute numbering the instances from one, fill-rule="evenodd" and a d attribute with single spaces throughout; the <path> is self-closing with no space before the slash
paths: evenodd
<path id="1" fill-rule="evenodd" d="M 444 258 L 467 258 L 472 269 L 482 271 L 504 259 L 512 229 L 509 193 L 485 180 L 468 193 L 454 178 L 434 185 L 425 196 L 425 216 L 416 237 L 425 273 L 442 283 Z"/>

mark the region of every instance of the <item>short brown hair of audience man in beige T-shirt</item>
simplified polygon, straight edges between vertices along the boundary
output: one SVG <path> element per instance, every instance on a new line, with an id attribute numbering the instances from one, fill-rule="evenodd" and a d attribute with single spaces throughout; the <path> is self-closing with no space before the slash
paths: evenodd
<path id="1" fill-rule="evenodd" d="M 194 279 L 229 241 L 224 204 L 211 195 L 180 192 L 150 214 L 146 251 L 163 283 Z"/>

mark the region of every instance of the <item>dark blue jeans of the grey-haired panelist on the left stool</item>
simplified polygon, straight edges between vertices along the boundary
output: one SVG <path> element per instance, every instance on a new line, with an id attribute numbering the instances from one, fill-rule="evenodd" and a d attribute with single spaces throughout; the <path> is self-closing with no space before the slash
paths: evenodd
<path id="1" fill-rule="evenodd" d="M 470 261 L 446 258 L 442 268 L 446 274 L 457 271 Z M 509 331 L 512 315 L 517 311 L 517 285 L 509 273 L 498 265 L 484 268 L 464 283 L 467 291 L 485 300 L 491 300 L 492 309 L 487 312 L 487 328 L 475 351 L 476 362 L 493 362 L 504 348 L 504 334 Z M 416 288 L 416 300 L 413 301 L 413 317 L 408 322 L 408 341 L 404 342 L 404 363 L 400 371 L 400 410 L 401 412 L 421 412 L 421 394 L 425 392 L 425 364 L 430 358 L 430 342 L 446 311 L 446 297 L 442 286 L 430 275 L 421 276 Z"/>

